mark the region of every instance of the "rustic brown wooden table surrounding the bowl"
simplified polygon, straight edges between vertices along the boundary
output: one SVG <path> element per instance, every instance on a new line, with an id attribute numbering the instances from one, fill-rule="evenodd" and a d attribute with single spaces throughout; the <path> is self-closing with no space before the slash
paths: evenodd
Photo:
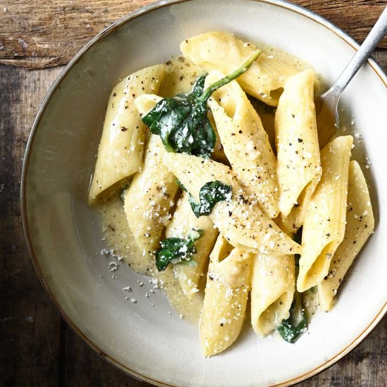
<path id="1" fill-rule="evenodd" d="M 0 386 L 149 386 L 102 360 L 58 315 L 30 262 L 19 193 L 34 115 L 63 65 L 104 27 L 152 2 L 0 0 Z M 295 2 L 359 42 L 386 5 Z M 386 39 L 374 58 L 387 69 Z M 300 386 L 387 386 L 387 318 L 352 353 Z"/>

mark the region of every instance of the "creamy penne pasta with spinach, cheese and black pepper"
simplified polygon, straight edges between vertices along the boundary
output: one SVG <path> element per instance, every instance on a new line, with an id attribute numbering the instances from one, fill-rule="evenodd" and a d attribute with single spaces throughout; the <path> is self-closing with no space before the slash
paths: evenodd
<path id="1" fill-rule="evenodd" d="M 374 229 L 353 137 L 317 128 L 310 68 L 228 32 L 180 49 L 114 87 L 89 204 L 132 269 L 200 314 L 204 356 L 236 341 L 246 309 L 256 334 L 294 343 Z"/>

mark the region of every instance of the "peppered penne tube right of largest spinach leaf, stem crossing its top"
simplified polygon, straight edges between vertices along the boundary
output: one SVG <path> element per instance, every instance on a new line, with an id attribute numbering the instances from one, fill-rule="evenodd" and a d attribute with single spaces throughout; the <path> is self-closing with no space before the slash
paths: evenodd
<path id="1" fill-rule="evenodd" d="M 209 86 L 222 77 L 222 72 L 210 72 L 205 85 Z M 277 160 L 258 113 L 236 81 L 215 91 L 208 105 L 224 153 L 248 194 L 248 201 L 258 203 L 268 217 L 277 217 Z"/>

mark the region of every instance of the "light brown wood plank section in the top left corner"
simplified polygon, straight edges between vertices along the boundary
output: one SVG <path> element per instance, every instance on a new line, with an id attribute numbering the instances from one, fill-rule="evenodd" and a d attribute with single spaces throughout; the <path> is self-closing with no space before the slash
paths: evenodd
<path id="1" fill-rule="evenodd" d="M 44 68 L 68 63 L 91 37 L 154 0 L 1 0 L 0 63 Z"/>

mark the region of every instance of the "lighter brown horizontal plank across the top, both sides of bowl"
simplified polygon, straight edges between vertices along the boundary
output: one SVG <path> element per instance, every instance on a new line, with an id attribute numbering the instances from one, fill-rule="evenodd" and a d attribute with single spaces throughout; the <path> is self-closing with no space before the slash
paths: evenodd
<path id="1" fill-rule="evenodd" d="M 0 0 L 0 63 L 46 68 L 68 63 L 115 20 L 153 0 Z M 359 42 L 386 6 L 382 0 L 295 0 Z M 381 42 L 387 47 L 387 38 Z"/>

